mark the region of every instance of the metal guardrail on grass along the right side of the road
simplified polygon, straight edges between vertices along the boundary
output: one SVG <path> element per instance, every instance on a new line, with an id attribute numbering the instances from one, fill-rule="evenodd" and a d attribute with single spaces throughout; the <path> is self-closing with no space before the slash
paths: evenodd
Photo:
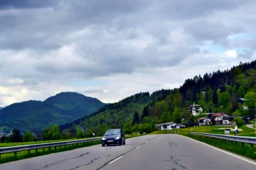
<path id="1" fill-rule="evenodd" d="M 233 136 L 233 135 L 222 135 L 222 134 L 211 134 L 211 133 L 197 133 L 197 132 L 191 132 L 189 134 L 195 134 L 195 135 L 202 135 L 205 137 L 212 137 L 212 138 L 218 138 L 223 139 L 231 142 L 241 142 L 242 146 L 245 143 L 249 143 L 251 147 L 253 145 L 256 145 L 256 138 L 255 137 L 241 137 L 241 136 Z"/>

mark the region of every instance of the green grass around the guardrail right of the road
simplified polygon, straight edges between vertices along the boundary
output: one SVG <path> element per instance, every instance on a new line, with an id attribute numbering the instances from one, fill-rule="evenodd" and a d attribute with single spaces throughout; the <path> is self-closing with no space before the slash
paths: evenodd
<path id="1" fill-rule="evenodd" d="M 247 158 L 256 160 L 256 147 L 250 147 L 249 144 L 246 144 L 242 147 L 240 142 L 237 143 L 227 143 L 226 141 L 221 141 L 220 139 L 212 139 L 209 137 L 203 137 L 199 135 L 191 135 L 191 129 L 193 132 L 200 132 L 200 133 L 213 133 L 213 134 L 224 134 L 224 129 L 222 128 L 234 128 L 234 126 L 197 126 L 192 128 L 182 128 L 182 129 L 173 129 L 173 130 L 158 130 L 153 131 L 150 134 L 167 134 L 167 133 L 176 133 L 185 135 L 189 138 L 196 139 L 197 141 L 208 143 L 209 145 L 222 148 L 223 150 L 230 151 Z M 255 129 L 247 128 L 246 125 L 238 127 L 238 129 L 242 129 L 239 131 L 238 135 L 240 136 L 247 136 L 247 137 L 255 137 Z M 230 135 L 234 135 L 234 131 L 230 132 Z"/>

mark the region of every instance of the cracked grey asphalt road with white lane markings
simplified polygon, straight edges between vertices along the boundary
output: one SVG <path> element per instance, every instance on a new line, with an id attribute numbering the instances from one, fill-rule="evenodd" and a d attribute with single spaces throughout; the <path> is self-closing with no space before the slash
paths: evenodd
<path id="1" fill-rule="evenodd" d="M 0 164 L 0 169 L 256 169 L 254 160 L 177 134 L 144 135 L 126 145 L 101 145 Z"/>

